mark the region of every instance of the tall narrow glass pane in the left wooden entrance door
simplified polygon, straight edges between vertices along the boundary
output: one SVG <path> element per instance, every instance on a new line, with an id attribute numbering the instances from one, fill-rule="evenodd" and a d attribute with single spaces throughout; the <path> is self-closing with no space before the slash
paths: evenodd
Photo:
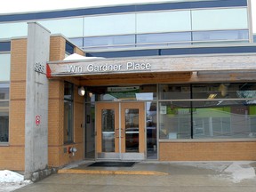
<path id="1" fill-rule="evenodd" d="M 115 152 L 115 110 L 101 110 L 102 152 Z"/>

